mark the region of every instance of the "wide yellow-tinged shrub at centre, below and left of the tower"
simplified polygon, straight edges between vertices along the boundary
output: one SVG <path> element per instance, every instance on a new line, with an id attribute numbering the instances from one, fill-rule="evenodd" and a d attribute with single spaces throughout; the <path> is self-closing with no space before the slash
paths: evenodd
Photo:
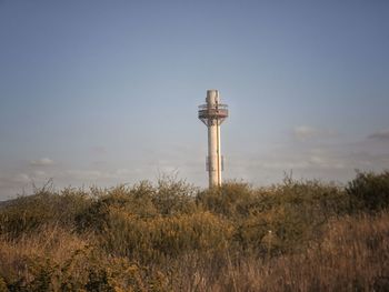
<path id="1" fill-rule="evenodd" d="M 228 222 L 209 212 L 140 218 L 111 208 L 108 229 L 100 238 L 108 252 L 147 262 L 222 249 L 231 231 Z"/>

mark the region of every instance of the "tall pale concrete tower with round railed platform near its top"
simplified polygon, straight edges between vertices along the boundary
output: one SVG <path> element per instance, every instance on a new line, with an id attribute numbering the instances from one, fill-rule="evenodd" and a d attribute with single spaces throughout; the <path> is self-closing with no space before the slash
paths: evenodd
<path id="1" fill-rule="evenodd" d="M 207 90 L 207 104 L 199 107 L 199 119 L 208 128 L 207 171 L 209 188 L 221 185 L 223 160 L 220 151 L 220 124 L 228 117 L 228 107 L 220 103 L 218 90 Z"/>

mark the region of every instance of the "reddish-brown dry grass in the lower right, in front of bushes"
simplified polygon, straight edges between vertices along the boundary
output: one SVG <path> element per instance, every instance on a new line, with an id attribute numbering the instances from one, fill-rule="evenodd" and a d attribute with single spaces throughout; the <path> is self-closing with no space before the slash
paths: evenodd
<path id="1" fill-rule="evenodd" d="M 306 252 L 273 259 L 240 258 L 213 269 L 208 261 L 181 269 L 182 291 L 388 291 L 389 214 L 332 220 Z"/>

